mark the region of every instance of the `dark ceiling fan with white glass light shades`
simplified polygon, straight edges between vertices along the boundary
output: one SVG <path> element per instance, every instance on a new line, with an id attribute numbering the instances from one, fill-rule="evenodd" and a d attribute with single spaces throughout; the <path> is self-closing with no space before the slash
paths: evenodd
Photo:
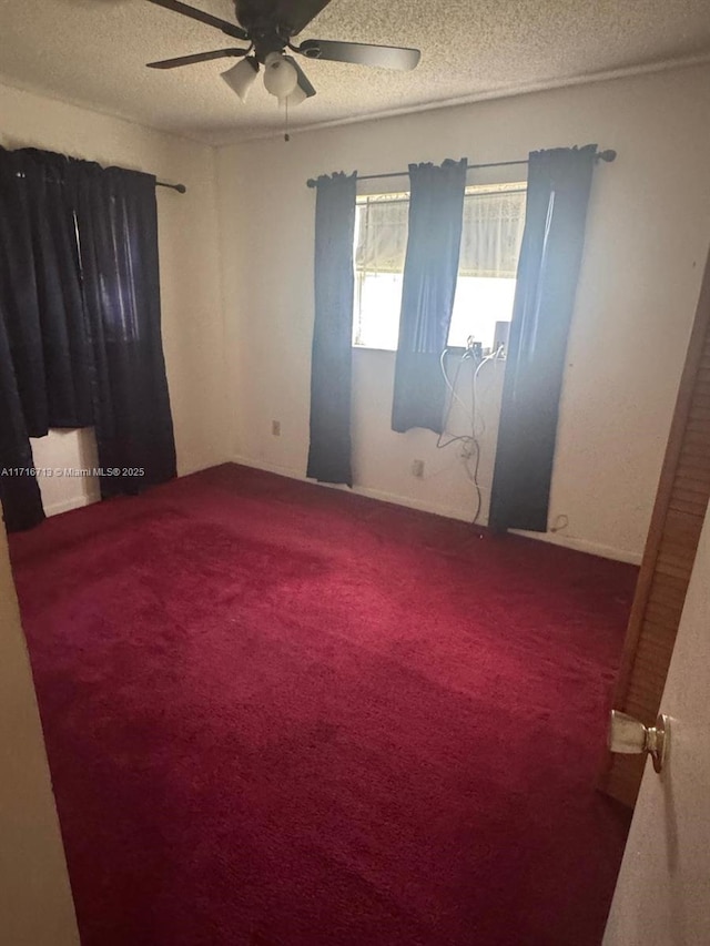
<path id="1" fill-rule="evenodd" d="M 376 65 L 383 69 L 409 70 L 419 62 L 418 49 L 336 40 L 305 40 L 300 45 L 294 45 L 293 38 L 331 0 L 235 0 L 236 23 L 213 17 L 180 0 L 148 0 L 148 2 L 215 27 L 227 37 L 248 43 L 246 47 L 217 49 L 148 63 L 151 69 L 175 69 L 212 59 L 239 58 L 242 61 L 223 72 L 222 78 L 243 102 L 262 67 L 264 67 L 264 85 L 280 102 L 300 105 L 301 102 L 315 95 L 315 89 L 305 72 L 292 55 L 284 52 L 286 49 L 306 59 L 327 59 L 334 62 L 352 62 L 356 65 Z"/>

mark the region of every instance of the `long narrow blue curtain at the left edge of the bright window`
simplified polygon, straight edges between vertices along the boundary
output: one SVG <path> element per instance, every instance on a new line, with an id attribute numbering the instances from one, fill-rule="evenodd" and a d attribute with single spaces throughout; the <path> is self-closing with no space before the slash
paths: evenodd
<path id="1" fill-rule="evenodd" d="M 317 181 L 311 449 L 306 476 L 353 485 L 351 374 L 356 174 Z"/>

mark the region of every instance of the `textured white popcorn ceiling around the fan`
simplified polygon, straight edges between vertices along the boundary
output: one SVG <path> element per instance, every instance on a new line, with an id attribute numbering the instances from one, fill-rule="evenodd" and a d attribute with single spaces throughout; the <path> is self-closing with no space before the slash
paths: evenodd
<path id="1" fill-rule="evenodd" d="M 230 0 L 192 6 L 233 16 Z M 397 73 L 302 60 L 317 95 L 292 111 L 294 129 L 710 57 L 710 2 L 332 0 L 307 38 L 418 47 L 422 63 Z M 242 105 L 219 78 L 234 60 L 144 64 L 231 44 L 144 0 L 0 0 L 3 81 L 213 144 L 283 126 L 262 83 Z"/>

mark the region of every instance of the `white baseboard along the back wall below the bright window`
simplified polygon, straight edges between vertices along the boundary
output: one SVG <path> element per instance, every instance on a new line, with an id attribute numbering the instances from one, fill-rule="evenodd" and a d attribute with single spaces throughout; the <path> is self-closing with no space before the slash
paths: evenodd
<path id="1" fill-rule="evenodd" d="M 435 516 L 444 516 L 447 519 L 457 519 L 459 522 L 470 522 L 470 516 L 462 512 L 460 509 L 442 506 L 437 502 L 427 502 L 426 500 L 413 499 L 408 496 L 399 496 L 395 492 L 386 492 L 381 489 L 371 489 L 365 486 L 354 486 L 351 489 L 346 486 L 334 486 L 326 482 L 315 482 L 315 480 L 306 479 L 306 477 L 293 467 L 283 467 L 278 464 L 270 464 L 264 460 L 255 460 L 252 457 L 235 456 L 232 461 L 244 467 L 264 470 L 265 472 L 277 474 L 290 479 L 298 479 L 302 482 L 312 482 L 315 486 L 323 486 L 327 489 L 344 489 L 348 492 L 354 492 L 357 496 L 365 496 L 368 499 L 376 499 L 381 502 L 392 502 L 395 506 L 405 506 L 407 509 L 418 509 L 420 512 L 432 512 Z M 485 523 L 481 523 L 485 526 Z M 598 542 L 590 542 L 587 539 L 577 539 L 572 536 L 564 536 L 560 532 L 525 532 L 521 529 L 510 530 L 516 536 L 523 536 L 527 539 L 536 539 L 539 542 L 548 542 L 552 546 L 560 546 L 566 549 L 571 549 L 577 552 L 585 552 L 599 558 L 611 559 L 613 561 L 622 561 L 628 564 L 640 564 L 642 559 L 641 552 L 632 552 L 627 549 L 615 549 L 611 546 L 604 546 Z"/>

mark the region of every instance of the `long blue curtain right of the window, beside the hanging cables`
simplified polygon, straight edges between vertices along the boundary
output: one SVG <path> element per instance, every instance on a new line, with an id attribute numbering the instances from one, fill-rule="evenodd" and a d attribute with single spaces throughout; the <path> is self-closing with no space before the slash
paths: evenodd
<path id="1" fill-rule="evenodd" d="M 595 144 L 530 154 L 525 233 L 498 428 L 489 527 L 547 530 L 567 337 Z"/>

